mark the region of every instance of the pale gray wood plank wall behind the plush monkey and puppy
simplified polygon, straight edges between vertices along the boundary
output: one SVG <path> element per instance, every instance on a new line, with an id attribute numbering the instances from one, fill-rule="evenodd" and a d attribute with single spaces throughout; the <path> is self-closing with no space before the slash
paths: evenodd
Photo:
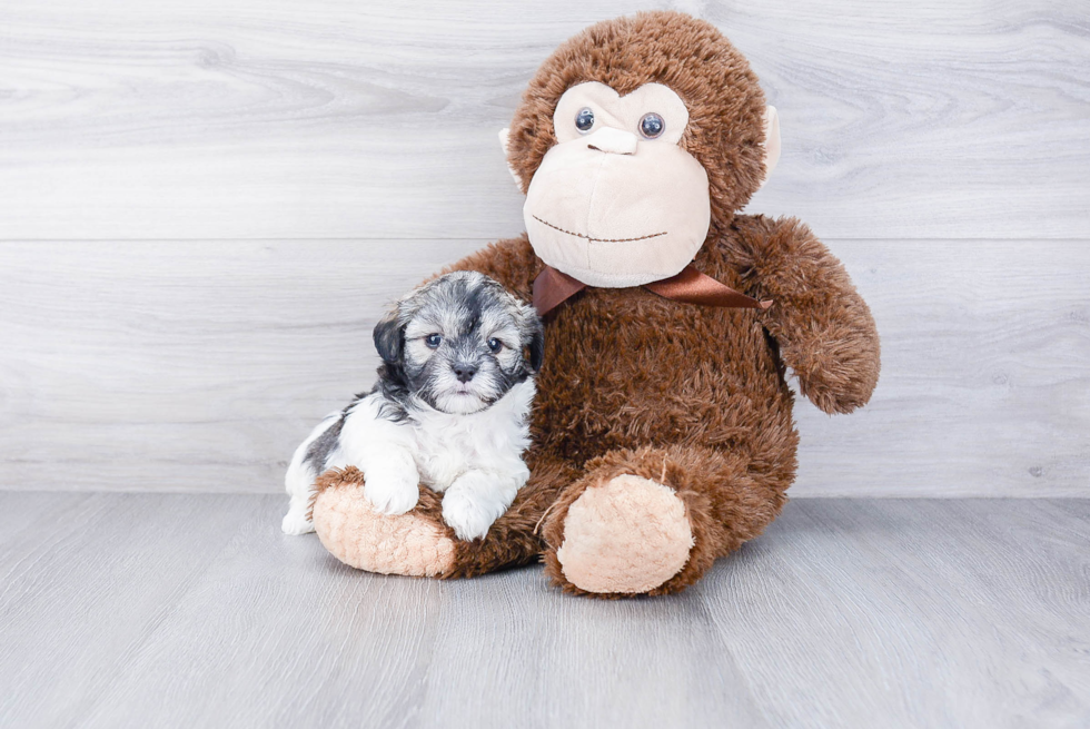
<path id="1" fill-rule="evenodd" d="M 558 42 L 661 3 L 0 8 L 0 487 L 279 489 L 383 304 L 522 230 L 496 144 Z M 1090 2 L 705 7 L 883 336 L 797 495 L 1090 493 Z"/>

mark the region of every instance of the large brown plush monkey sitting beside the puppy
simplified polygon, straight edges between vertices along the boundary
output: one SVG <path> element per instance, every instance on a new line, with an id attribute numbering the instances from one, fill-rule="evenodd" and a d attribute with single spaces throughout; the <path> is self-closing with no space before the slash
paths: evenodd
<path id="1" fill-rule="evenodd" d="M 358 471 L 327 473 L 313 516 L 329 551 L 442 578 L 543 558 L 565 590 L 615 597 L 682 590 L 760 534 L 795 475 L 785 368 L 828 413 L 866 403 L 879 376 L 841 264 L 799 220 L 737 213 L 777 132 L 706 22 L 643 13 L 557 49 L 507 139 L 528 235 L 454 266 L 548 309 L 531 481 L 462 542 L 434 492 L 384 516 Z"/>

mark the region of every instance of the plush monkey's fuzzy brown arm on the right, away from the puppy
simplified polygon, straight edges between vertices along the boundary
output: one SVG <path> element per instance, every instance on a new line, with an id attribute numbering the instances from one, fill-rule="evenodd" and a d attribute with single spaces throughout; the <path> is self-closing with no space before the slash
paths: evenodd
<path id="1" fill-rule="evenodd" d="M 739 216 L 735 226 L 733 263 L 747 294 L 773 299 L 759 316 L 802 394 L 826 413 L 865 405 L 881 368 L 878 329 L 844 266 L 795 218 Z"/>

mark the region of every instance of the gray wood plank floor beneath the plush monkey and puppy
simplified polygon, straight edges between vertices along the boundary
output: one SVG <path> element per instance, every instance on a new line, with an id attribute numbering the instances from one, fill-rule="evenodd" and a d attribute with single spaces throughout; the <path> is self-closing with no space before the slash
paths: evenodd
<path id="1" fill-rule="evenodd" d="M 1090 726 L 1090 500 L 796 500 L 618 602 L 356 572 L 281 506 L 0 492 L 0 726 Z"/>

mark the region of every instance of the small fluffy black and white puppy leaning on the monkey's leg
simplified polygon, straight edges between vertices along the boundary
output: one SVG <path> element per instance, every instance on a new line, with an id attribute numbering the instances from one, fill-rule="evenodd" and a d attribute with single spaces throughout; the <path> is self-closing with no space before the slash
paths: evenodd
<path id="1" fill-rule="evenodd" d="M 375 347 L 378 383 L 321 421 L 291 459 L 284 532 L 314 531 L 315 480 L 354 465 L 378 511 L 404 514 L 425 484 L 445 492 L 443 519 L 458 538 L 484 536 L 529 477 L 522 454 L 541 318 L 484 274 L 457 272 L 402 298 L 375 326 Z"/>

